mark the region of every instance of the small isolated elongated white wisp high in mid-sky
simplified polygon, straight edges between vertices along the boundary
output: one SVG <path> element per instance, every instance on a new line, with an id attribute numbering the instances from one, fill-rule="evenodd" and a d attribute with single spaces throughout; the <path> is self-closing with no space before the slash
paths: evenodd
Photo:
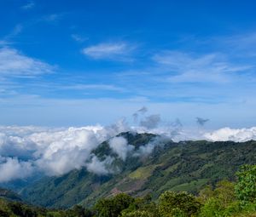
<path id="1" fill-rule="evenodd" d="M 129 57 L 135 47 L 128 43 L 100 43 L 82 50 L 84 55 L 93 59 L 131 60 Z"/>

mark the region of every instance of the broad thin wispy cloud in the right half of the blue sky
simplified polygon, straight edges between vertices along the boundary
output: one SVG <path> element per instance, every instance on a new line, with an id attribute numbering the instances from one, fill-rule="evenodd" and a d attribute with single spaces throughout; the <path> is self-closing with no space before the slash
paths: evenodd
<path id="1" fill-rule="evenodd" d="M 236 72 L 247 71 L 253 66 L 236 64 L 221 53 L 189 54 L 164 51 L 154 55 L 154 60 L 169 71 L 168 81 L 173 83 L 228 83 Z"/>

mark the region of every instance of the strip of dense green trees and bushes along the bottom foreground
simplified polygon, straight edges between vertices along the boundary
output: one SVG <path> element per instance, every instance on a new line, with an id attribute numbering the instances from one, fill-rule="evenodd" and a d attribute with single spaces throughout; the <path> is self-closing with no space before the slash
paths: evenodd
<path id="1" fill-rule="evenodd" d="M 68 210 L 35 208 L 0 200 L 0 216 L 21 217 L 228 217 L 256 216 L 256 165 L 244 165 L 237 181 L 221 180 L 205 186 L 198 195 L 186 191 L 165 191 L 156 202 L 150 195 L 131 197 L 125 193 L 102 198 L 90 209 L 74 206 Z"/>

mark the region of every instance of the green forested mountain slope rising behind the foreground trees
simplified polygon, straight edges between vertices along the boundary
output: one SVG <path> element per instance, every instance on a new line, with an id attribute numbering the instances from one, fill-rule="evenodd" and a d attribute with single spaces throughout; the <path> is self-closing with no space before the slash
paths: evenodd
<path id="1" fill-rule="evenodd" d="M 129 144 L 139 150 L 155 140 L 153 134 L 124 133 Z M 30 203 L 49 208 L 67 208 L 80 203 L 92 205 L 100 197 L 117 192 L 133 196 L 152 193 L 157 198 L 161 192 L 197 192 L 202 186 L 218 180 L 234 179 L 241 164 L 256 163 L 256 142 L 209 142 L 156 140 L 159 146 L 148 156 L 130 156 L 125 162 L 103 142 L 93 153 L 102 161 L 113 157 L 111 166 L 119 168 L 114 174 L 97 175 L 85 168 L 73 170 L 61 177 L 49 177 L 26 187 L 22 195 Z"/>

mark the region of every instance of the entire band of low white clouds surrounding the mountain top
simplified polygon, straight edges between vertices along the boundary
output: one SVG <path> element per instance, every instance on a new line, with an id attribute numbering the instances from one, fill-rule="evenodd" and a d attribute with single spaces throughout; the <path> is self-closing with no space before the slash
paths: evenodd
<path id="1" fill-rule="evenodd" d="M 147 155 L 160 140 L 256 140 L 254 128 L 220 128 L 218 130 L 189 131 L 177 120 L 169 126 L 160 126 L 160 116 L 144 116 L 142 108 L 134 114 L 137 127 L 129 127 L 125 120 L 110 126 L 85 126 L 79 128 L 41 128 L 33 126 L 0 127 L 0 183 L 26 179 L 35 173 L 44 175 L 66 174 L 74 168 L 87 168 L 95 174 L 108 174 L 112 157 L 100 161 L 91 153 L 103 141 L 108 140 L 110 148 L 123 161 L 129 155 Z M 141 117 L 141 119 L 139 119 Z M 199 120 L 201 123 L 206 120 Z M 141 146 L 137 151 L 123 137 L 121 132 L 160 134 L 160 139 Z"/>

